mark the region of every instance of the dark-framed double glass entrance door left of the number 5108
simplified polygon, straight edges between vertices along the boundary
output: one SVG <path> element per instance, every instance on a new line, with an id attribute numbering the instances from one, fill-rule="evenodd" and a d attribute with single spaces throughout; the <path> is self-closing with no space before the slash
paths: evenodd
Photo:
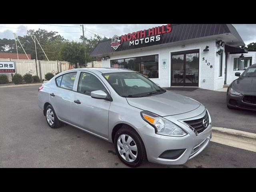
<path id="1" fill-rule="evenodd" d="M 171 86 L 198 86 L 199 50 L 172 53 Z"/>

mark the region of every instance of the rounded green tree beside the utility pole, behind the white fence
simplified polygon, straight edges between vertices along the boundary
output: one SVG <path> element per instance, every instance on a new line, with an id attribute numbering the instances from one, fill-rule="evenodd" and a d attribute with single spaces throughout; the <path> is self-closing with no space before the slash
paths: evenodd
<path id="1" fill-rule="evenodd" d="M 60 47 L 59 58 L 72 64 L 85 64 L 84 45 L 80 42 L 66 41 Z"/>

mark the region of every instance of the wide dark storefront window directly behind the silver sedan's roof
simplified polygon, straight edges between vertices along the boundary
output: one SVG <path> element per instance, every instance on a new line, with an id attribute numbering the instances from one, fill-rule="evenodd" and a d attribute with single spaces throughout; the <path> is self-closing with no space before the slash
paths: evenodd
<path id="1" fill-rule="evenodd" d="M 148 78 L 158 78 L 158 55 L 110 60 L 111 67 L 134 70 Z"/>

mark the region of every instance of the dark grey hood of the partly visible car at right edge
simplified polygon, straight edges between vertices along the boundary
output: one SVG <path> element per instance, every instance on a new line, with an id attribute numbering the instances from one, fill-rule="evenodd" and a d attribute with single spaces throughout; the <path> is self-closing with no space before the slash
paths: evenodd
<path id="1" fill-rule="evenodd" d="M 232 86 L 242 91 L 256 91 L 256 78 L 240 77 L 233 81 Z"/>

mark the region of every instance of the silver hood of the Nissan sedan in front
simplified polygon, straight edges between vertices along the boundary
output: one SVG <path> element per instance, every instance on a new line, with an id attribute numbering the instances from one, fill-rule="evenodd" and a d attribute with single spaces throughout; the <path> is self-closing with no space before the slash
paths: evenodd
<path id="1" fill-rule="evenodd" d="M 126 99 L 131 106 L 160 116 L 182 114 L 195 110 L 200 106 L 200 103 L 196 100 L 171 91 L 153 96 Z"/>

